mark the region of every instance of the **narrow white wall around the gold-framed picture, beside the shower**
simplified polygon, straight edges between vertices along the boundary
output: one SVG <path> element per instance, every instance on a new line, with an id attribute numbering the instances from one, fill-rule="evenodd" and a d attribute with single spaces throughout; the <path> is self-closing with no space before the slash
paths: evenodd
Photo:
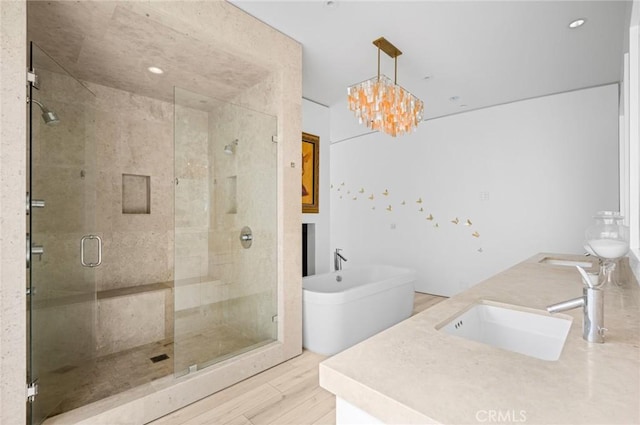
<path id="1" fill-rule="evenodd" d="M 329 108 L 302 99 L 302 131 L 320 137 L 320 193 L 318 214 L 302 214 L 303 223 L 315 224 L 315 270 L 309 274 L 330 271 L 331 248 L 329 245 Z M 300 230 L 302 231 L 302 229 Z"/>

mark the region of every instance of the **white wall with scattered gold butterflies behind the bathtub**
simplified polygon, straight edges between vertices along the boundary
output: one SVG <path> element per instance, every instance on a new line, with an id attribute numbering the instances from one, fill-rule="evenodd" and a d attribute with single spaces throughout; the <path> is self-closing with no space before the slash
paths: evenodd
<path id="1" fill-rule="evenodd" d="M 332 132 L 341 119 L 354 118 L 332 113 Z M 345 267 L 409 266 L 442 295 L 537 252 L 582 253 L 593 213 L 618 209 L 618 124 L 614 84 L 335 143 L 332 243 Z"/>

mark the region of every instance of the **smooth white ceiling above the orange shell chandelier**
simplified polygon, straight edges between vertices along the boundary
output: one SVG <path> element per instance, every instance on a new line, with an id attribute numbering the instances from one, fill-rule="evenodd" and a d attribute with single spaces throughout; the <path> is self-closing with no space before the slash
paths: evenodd
<path id="1" fill-rule="evenodd" d="M 403 54 L 398 84 L 425 118 L 621 80 L 629 1 L 231 0 L 303 46 L 303 96 L 327 106 Z M 568 24 L 585 18 L 586 24 Z M 393 78 L 384 53 L 382 72 Z M 425 78 L 428 77 L 428 78 Z M 453 100 L 452 100 L 453 98 Z"/>

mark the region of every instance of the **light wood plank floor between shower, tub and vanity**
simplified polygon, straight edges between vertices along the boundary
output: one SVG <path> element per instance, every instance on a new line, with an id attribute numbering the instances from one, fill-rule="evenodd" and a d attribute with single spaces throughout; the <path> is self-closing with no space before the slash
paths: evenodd
<path id="1" fill-rule="evenodd" d="M 413 314 L 445 297 L 416 292 Z M 334 425 L 335 396 L 318 385 L 325 356 L 304 350 L 285 363 L 151 422 L 153 425 Z"/>

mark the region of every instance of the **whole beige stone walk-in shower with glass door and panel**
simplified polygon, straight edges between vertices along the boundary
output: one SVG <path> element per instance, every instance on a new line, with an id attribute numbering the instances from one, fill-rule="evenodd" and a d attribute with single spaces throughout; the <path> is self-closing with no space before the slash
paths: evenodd
<path id="1" fill-rule="evenodd" d="M 64 54 L 31 46 L 34 424 L 278 339 L 277 119 L 239 106 L 268 73 L 167 99 Z"/>

